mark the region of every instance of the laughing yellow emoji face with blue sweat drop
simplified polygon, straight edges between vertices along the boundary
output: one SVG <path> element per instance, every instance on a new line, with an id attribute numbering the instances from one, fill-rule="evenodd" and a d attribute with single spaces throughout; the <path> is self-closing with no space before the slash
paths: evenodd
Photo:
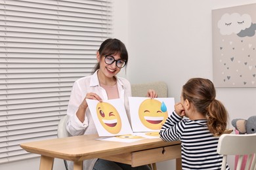
<path id="1" fill-rule="evenodd" d="M 163 103 L 164 104 L 164 103 Z M 140 122 L 149 129 L 161 129 L 168 117 L 166 106 L 156 99 L 146 99 L 139 107 Z"/>

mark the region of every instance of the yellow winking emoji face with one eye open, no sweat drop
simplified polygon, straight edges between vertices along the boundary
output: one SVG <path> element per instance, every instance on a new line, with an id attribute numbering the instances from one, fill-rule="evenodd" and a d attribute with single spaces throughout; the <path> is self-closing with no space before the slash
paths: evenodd
<path id="1" fill-rule="evenodd" d="M 117 134 L 121 131 L 121 118 L 113 105 L 100 102 L 96 106 L 96 113 L 100 124 L 106 131 L 113 134 Z"/>

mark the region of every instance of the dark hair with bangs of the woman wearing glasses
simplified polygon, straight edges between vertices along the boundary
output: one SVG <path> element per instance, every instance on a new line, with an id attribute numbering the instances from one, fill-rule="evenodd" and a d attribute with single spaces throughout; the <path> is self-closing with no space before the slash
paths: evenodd
<path id="1" fill-rule="evenodd" d="M 126 50 L 125 44 L 119 41 L 119 39 L 106 39 L 100 45 L 98 52 L 100 54 L 100 58 L 102 58 L 104 55 L 119 54 L 121 59 L 123 59 L 124 61 L 126 61 L 126 63 L 128 63 L 128 52 Z M 93 69 L 93 73 L 95 73 L 95 71 L 98 70 L 99 68 L 100 68 L 100 63 L 98 62 L 96 63 L 95 68 Z"/>

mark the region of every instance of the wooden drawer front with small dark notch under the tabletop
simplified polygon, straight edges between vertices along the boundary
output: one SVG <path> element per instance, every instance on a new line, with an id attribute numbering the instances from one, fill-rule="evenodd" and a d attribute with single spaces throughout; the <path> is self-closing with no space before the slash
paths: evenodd
<path id="1" fill-rule="evenodd" d="M 181 158 L 181 145 L 165 146 L 131 153 L 131 165 L 137 167 L 152 162 Z"/>

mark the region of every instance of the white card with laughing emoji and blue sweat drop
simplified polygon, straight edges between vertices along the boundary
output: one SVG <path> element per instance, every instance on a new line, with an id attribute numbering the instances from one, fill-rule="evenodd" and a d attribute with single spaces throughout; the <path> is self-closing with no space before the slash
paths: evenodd
<path id="1" fill-rule="evenodd" d="M 129 97 L 133 132 L 160 131 L 165 120 L 174 110 L 173 97 Z"/>

